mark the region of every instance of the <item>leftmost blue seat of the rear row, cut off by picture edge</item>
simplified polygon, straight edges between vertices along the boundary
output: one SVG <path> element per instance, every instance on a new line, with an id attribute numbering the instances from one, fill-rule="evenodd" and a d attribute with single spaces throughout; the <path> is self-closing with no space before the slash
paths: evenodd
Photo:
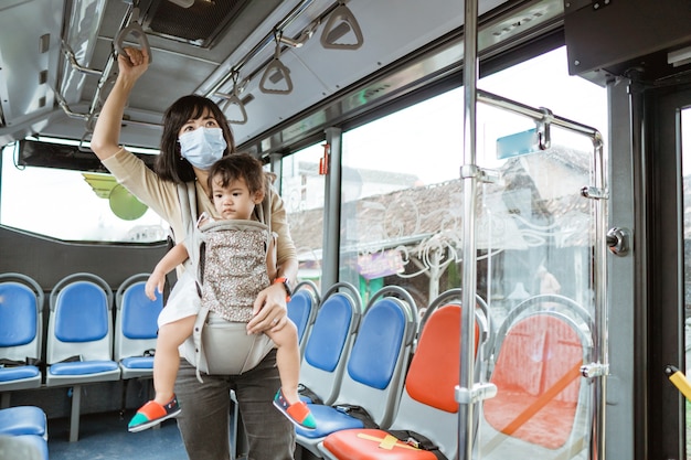
<path id="1" fill-rule="evenodd" d="M 22 274 L 0 275 L 0 407 L 10 392 L 41 386 L 43 289 Z"/>

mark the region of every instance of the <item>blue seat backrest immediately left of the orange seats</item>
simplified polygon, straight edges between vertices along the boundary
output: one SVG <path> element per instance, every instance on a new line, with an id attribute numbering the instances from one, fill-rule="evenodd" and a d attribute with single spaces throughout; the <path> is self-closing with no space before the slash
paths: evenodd
<path id="1" fill-rule="evenodd" d="M 416 332 L 413 298 L 397 286 L 376 291 L 362 315 L 333 405 L 361 406 L 382 428 L 391 425 Z"/>

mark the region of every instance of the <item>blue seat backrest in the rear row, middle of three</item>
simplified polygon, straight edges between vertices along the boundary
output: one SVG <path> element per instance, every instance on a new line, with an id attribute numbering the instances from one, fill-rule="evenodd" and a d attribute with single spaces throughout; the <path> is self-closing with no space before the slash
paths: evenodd
<path id="1" fill-rule="evenodd" d="M 72 356 L 113 360 L 113 290 L 100 277 L 78 272 L 57 281 L 50 297 L 46 362 Z"/>

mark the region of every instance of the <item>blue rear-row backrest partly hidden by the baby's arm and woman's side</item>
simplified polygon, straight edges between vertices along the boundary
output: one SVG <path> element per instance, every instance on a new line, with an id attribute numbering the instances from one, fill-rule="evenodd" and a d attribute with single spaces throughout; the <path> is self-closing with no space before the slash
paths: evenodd
<path id="1" fill-rule="evenodd" d="M 156 292 L 156 300 L 146 296 L 148 278 L 149 274 L 132 275 L 115 293 L 115 361 L 141 356 L 147 350 L 156 349 L 163 296 Z"/>

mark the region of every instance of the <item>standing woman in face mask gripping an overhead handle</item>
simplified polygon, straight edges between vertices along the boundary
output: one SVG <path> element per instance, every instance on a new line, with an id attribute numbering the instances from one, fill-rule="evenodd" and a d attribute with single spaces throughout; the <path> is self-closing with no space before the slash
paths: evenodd
<path id="1" fill-rule="evenodd" d="M 202 96 L 184 96 L 163 116 L 161 153 L 156 172 L 119 146 L 125 105 L 137 79 L 148 68 L 146 50 L 128 47 L 118 56 L 118 77 L 98 116 L 92 150 L 130 193 L 151 207 L 171 226 L 177 240 L 187 236 L 178 184 L 194 181 L 198 213 L 220 217 L 209 199 L 208 175 L 211 164 L 234 152 L 227 121 L 215 103 Z M 216 136 L 221 128 L 222 136 Z M 198 131 L 199 130 L 199 131 Z M 181 145 L 179 138 L 195 132 L 196 141 Z M 188 138 L 188 137 L 185 137 Z M 278 234 L 277 277 L 295 279 L 297 256 L 290 238 L 283 201 L 272 190 L 272 229 Z M 248 333 L 279 331 L 287 323 L 286 287 L 275 284 L 264 289 L 254 304 Z M 242 375 L 205 376 L 196 379 L 195 368 L 185 360 L 180 363 L 176 394 L 184 407 L 178 418 L 188 456 L 192 460 L 230 460 L 230 389 L 235 391 L 248 440 L 248 459 L 293 459 L 295 431 L 272 400 L 280 385 L 276 351 L 252 371 Z"/>

